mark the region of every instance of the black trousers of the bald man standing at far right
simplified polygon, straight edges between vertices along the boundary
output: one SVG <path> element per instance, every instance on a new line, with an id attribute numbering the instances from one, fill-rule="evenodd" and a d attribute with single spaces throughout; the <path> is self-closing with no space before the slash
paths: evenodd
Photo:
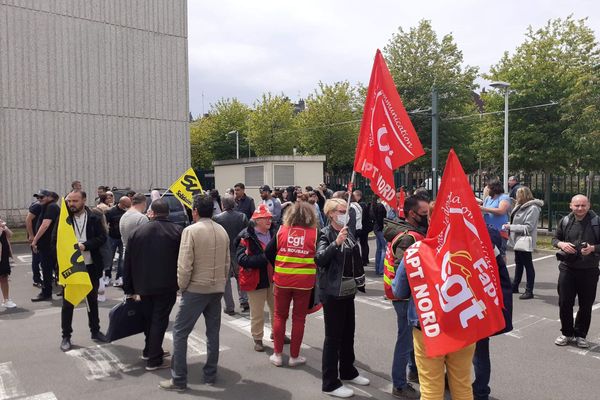
<path id="1" fill-rule="evenodd" d="M 558 305 L 560 307 L 560 325 L 563 335 L 571 337 L 587 336 L 592 320 L 592 305 L 598 287 L 598 268 L 561 269 L 558 275 Z M 579 310 L 573 324 L 573 306 L 575 296 L 579 299 Z"/>

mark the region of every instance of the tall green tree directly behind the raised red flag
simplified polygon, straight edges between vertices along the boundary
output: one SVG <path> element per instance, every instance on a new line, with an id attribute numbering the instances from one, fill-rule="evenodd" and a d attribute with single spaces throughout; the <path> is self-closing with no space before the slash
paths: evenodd
<path id="1" fill-rule="evenodd" d="M 475 155 L 470 147 L 471 124 L 468 119 L 444 120 L 444 117 L 472 114 L 476 111 L 473 90 L 477 87 L 477 68 L 463 66 L 462 51 L 451 34 L 441 40 L 431 26 L 422 20 L 417 27 L 404 31 L 401 27 L 383 50 L 394 78 L 398 93 L 407 111 L 426 110 L 431 105 L 431 89 L 439 93 L 440 124 L 438 132 L 439 157 L 443 162 L 451 147 L 459 155 L 463 167 L 475 166 Z M 410 115 L 419 135 L 425 156 L 415 164 L 424 168 L 431 165 L 431 113 Z"/>

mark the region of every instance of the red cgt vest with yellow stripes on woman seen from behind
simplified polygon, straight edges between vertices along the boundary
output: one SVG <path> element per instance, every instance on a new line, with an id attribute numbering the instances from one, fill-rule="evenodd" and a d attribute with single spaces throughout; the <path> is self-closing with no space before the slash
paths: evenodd
<path id="1" fill-rule="evenodd" d="M 283 288 L 312 289 L 317 275 L 317 230 L 283 225 L 277 232 L 277 248 L 273 282 Z"/>

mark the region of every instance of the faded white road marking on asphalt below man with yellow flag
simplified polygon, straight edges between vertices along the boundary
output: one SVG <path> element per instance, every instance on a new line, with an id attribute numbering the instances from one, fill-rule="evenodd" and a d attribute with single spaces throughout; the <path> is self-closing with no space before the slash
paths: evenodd
<path id="1" fill-rule="evenodd" d="M 139 365 L 124 364 L 119 357 L 113 353 L 111 345 L 94 346 L 67 351 L 71 357 L 75 357 L 86 367 L 86 379 L 97 380 L 109 378 L 121 372 L 130 372 L 140 369 Z"/>

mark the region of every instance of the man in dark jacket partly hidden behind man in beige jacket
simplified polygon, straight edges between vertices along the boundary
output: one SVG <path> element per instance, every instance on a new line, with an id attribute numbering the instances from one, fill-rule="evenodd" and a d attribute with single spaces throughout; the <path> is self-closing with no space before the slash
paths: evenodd
<path id="1" fill-rule="evenodd" d="M 235 314 L 235 303 L 233 302 L 233 295 L 231 293 L 231 277 L 235 277 L 235 280 L 238 282 L 238 295 L 240 296 L 240 307 L 242 307 L 242 311 L 247 312 L 250 309 L 248 305 L 248 294 L 240 289 L 239 286 L 239 267 L 236 259 L 236 246 L 235 246 L 235 238 L 240 234 L 248 226 L 248 218 L 246 215 L 242 214 L 239 211 L 235 211 L 235 199 L 232 196 L 225 196 L 222 199 L 223 201 L 223 211 L 219 215 L 213 217 L 216 223 L 225 228 L 227 232 L 227 236 L 229 236 L 229 251 L 231 252 L 231 266 L 229 269 L 229 278 L 225 283 L 225 293 L 223 294 L 223 299 L 225 300 L 225 314 L 234 315 Z"/>

